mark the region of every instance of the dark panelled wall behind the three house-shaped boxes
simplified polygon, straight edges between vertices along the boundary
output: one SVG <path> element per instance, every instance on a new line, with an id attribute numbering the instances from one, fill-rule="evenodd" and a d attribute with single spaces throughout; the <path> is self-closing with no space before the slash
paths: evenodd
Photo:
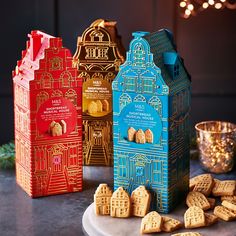
<path id="1" fill-rule="evenodd" d="M 0 6 L 0 143 L 13 139 L 11 71 L 32 29 L 61 36 L 74 54 L 77 36 L 97 18 L 114 19 L 128 48 L 136 30 L 173 31 L 192 75 L 192 126 L 236 122 L 236 10 L 208 9 L 183 19 L 174 0 L 12 0 Z"/>

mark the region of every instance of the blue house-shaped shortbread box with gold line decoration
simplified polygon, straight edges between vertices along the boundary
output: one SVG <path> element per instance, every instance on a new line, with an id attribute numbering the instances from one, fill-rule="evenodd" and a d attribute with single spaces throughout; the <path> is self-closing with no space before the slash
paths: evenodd
<path id="1" fill-rule="evenodd" d="M 168 213 L 188 191 L 191 81 L 168 30 L 133 36 L 112 84 L 114 188 L 145 185 Z"/>

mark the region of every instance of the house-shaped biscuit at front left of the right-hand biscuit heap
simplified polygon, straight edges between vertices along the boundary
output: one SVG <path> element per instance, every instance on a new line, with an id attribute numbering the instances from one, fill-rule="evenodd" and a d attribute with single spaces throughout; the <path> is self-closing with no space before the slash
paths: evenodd
<path id="1" fill-rule="evenodd" d="M 205 226 L 204 211 L 197 206 L 189 207 L 184 213 L 184 225 L 187 229 Z"/>

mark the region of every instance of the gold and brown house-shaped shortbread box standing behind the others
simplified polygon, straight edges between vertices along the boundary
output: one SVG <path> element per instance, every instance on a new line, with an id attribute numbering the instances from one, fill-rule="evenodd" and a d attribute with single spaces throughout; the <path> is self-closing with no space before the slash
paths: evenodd
<path id="1" fill-rule="evenodd" d="M 112 81 L 125 50 L 116 22 L 98 19 L 78 37 L 73 57 L 83 79 L 83 162 L 113 164 Z"/>

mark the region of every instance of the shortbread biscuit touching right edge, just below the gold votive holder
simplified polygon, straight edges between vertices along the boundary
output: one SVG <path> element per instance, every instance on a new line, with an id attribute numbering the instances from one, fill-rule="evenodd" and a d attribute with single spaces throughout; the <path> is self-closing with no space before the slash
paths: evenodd
<path id="1" fill-rule="evenodd" d="M 212 189 L 212 194 L 218 196 L 233 196 L 235 191 L 235 180 L 215 181 L 215 186 Z"/>

